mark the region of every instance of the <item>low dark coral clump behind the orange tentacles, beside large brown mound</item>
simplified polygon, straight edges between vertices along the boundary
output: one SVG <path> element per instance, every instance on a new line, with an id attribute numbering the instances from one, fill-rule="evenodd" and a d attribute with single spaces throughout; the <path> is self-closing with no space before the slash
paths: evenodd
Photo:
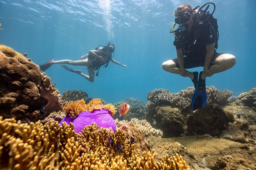
<path id="1" fill-rule="evenodd" d="M 77 101 L 88 98 L 88 94 L 81 90 L 68 90 L 67 92 L 63 92 L 62 99 L 65 101 Z"/>

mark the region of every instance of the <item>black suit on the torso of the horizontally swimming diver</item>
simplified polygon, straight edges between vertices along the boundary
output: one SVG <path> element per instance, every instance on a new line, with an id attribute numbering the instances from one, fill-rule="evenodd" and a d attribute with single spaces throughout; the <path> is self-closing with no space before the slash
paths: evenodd
<path id="1" fill-rule="evenodd" d="M 111 53 L 110 53 L 111 54 Z M 112 58 L 112 55 L 109 55 L 108 53 L 104 53 L 103 56 L 101 56 L 104 61 L 100 61 L 98 58 L 94 57 L 93 55 L 89 54 L 88 55 L 88 62 L 89 62 L 89 66 L 88 68 L 93 68 L 93 69 L 97 69 L 99 67 L 101 67 L 102 65 L 105 65 L 105 67 L 108 66 L 109 61 Z"/>

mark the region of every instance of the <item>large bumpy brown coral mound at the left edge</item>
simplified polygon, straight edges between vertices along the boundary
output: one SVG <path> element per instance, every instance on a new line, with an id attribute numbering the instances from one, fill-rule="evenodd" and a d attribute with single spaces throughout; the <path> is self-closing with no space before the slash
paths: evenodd
<path id="1" fill-rule="evenodd" d="M 62 101 L 50 78 L 25 55 L 0 45 L 0 110 L 4 118 L 36 121 L 62 110 Z"/>

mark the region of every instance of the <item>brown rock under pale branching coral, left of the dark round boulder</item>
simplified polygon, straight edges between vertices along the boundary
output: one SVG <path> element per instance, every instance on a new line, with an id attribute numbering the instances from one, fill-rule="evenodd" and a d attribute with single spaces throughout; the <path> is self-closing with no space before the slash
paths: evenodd
<path id="1" fill-rule="evenodd" d="M 163 137 L 178 137 L 187 128 L 186 119 L 191 110 L 181 110 L 172 106 L 157 106 L 152 103 L 146 105 L 149 112 L 146 120 L 154 128 L 163 131 Z M 155 121 L 155 123 L 154 123 Z"/>

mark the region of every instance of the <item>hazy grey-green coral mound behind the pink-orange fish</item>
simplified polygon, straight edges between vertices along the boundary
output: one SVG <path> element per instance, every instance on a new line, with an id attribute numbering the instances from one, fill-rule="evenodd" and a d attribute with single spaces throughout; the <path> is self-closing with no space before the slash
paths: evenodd
<path id="1" fill-rule="evenodd" d="M 134 98 L 127 98 L 121 102 L 114 104 L 117 110 L 120 110 L 122 103 L 127 103 L 128 105 L 130 105 L 130 109 L 128 113 L 125 116 L 122 116 L 121 118 L 119 118 L 117 114 L 114 115 L 114 119 L 127 121 L 131 121 L 132 118 L 137 118 L 139 120 L 145 119 L 145 113 L 147 112 L 145 102 L 139 101 L 138 99 Z"/>

